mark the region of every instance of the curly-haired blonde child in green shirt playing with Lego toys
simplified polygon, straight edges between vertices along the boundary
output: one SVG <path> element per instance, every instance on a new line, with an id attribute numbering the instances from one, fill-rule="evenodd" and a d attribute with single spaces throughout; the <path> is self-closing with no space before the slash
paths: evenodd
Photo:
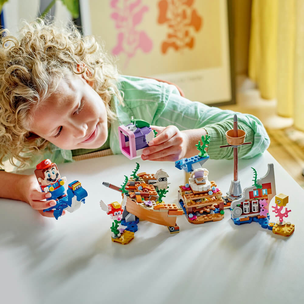
<path id="1" fill-rule="evenodd" d="M 158 135 L 142 158 L 176 161 L 198 153 L 195 143 L 208 134 L 213 159 L 232 158 L 225 132 L 233 112 L 190 102 L 173 85 L 119 76 L 93 37 L 81 37 L 73 25 L 57 28 L 38 19 L 26 23 L 19 37 L 2 30 L 0 47 L 0 163 L 16 159 L 34 167 L 43 159 L 72 161 L 73 155 L 111 148 L 120 153 L 117 128 L 131 116 L 155 125 Z M 240 157 L 254 157 L 269 145 L 254 116 L 238 113 L 247 132 Z M 1 171 L 0 197 L 27 202 L 43 216 L 55 205 L 45 201 L 35 175 Z"/>

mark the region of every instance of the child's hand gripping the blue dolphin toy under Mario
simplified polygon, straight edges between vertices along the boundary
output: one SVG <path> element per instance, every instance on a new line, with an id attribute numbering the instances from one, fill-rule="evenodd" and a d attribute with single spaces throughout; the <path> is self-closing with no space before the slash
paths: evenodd
<path id="1" fill-rule="evenodd" d="M 56 201 L 54 199 L 44 200 L 51 197 L 51 194 L 50 192 L 41 192 L 35 175 L 24 175 L 19 187 L 24 202 L 27 202 L 33 209 L 38 210 L 41 215 L 54 217 L 54 210 L 43 212 L 43 209 L 55 206 Z M 62 215 L 64 214 L 65 211 L 62 212 Z"/>

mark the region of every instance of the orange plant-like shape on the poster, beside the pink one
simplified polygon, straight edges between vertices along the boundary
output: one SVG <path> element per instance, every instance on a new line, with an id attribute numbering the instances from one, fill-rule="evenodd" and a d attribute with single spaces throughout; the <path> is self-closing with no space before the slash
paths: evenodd
<path id="1" fill-rule="evenodd" d="M 202 17 L 192 7 L 194 0 L 160 0 L 158 2 L 159 24 L 166 24 L 168 32 L 162 41 L 161 52 L 165 54 L 169 48 L 178 51 L 183 48 L 192 49 L 195 38 L 193 32 L 202 28 Z"/>

